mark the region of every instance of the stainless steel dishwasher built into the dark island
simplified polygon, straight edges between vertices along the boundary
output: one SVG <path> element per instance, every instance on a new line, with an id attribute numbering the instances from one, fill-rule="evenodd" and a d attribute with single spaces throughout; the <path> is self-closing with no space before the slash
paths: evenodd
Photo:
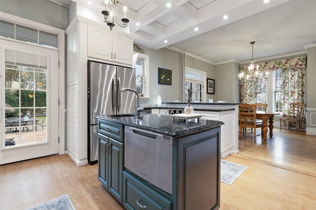
<path id="1" fill-rule="evenodd" d="M 172 137 L 125 126 L 124 167 L 172 195 Z"/>

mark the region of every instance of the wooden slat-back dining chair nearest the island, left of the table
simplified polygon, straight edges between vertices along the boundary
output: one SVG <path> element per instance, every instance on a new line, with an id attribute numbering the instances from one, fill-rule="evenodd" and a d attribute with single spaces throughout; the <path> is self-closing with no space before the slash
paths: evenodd
<path id="1" fill-rule="evenodd" d="M 241 134 L 245 135 L 246 133 L 252 133 L 247 132 L 246 128 L 254 128 L 254 136 L 255 136 L 255 142 L 256 142 L 256 128 L 262 127 L 262 122 L 256 121 L 256 105 L 252 104 L 239 104 L 239 139 L 241 139 Z M 261 138 L 262 138 L 262 132 L 261 132 Z M 258 135 L 258 136 L 260 136 Z"/>

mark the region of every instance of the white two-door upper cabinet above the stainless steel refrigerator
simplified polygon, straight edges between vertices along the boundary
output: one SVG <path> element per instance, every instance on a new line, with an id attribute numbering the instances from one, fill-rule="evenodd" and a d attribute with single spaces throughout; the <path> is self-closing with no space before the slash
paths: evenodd
<path id="1" fill-rule="evenodd" d="M 133 39 L 127 35 L 88 26 L 88 57 L 133 64 Z"/>

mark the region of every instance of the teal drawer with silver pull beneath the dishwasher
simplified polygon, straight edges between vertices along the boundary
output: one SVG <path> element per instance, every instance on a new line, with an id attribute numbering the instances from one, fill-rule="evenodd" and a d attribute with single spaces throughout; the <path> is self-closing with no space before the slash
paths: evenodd
<path id="1" fill-rule="evenodd" d="M 171 210 L 172 202 L 124 171 L 123 206 L 127 210 Z"/>

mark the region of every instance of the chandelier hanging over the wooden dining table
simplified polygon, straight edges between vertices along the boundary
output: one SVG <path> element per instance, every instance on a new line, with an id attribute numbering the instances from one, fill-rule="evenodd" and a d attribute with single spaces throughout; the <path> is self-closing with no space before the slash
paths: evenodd
<path id="1" fill-rule="evenodd" d="M 268 82 L 268 71 L 263 72 L 259 71 L 259 65 L 255 66 L 255 62 L 253 61 L 253 44 L 255 42 L 250 42 L 252 46 L 251 53 L 251 63 L 248 66 L 248 72 L 241 72 L 239 74 L 239 83 L 244 83 L 245 81 L 254 81 L 256 83 L 266 83 Z"/>

